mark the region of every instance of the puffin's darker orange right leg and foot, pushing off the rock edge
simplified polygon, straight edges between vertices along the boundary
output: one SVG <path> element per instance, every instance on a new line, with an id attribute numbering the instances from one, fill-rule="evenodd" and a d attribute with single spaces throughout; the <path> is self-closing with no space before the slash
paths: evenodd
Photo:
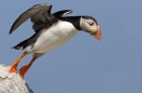
<path id="1" fill-rule="evenodd" d="M 26 71 L 29 69 L 29 67 L 32 66 L 32 64 L 35 62 L 35 57 L 32 58 L 32 61 L 29 62 L 28 65 L 25 65 L 23 67 L 21 67 L 20 69 L 20 76 L 24 79 L 24 75 L 26 74 Z"/>

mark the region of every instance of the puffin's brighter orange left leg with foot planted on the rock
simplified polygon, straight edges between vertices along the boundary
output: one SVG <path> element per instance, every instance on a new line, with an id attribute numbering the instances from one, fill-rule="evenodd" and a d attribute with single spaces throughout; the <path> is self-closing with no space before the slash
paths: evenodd
<path id="1" fill-rule="evenodd" d="M 10 67 L 9 72 L 16 72 L 16 67 L 19 63 L 22 61 L 22 58 L 25 56 L 25 53 L 23 53 Z"/>

